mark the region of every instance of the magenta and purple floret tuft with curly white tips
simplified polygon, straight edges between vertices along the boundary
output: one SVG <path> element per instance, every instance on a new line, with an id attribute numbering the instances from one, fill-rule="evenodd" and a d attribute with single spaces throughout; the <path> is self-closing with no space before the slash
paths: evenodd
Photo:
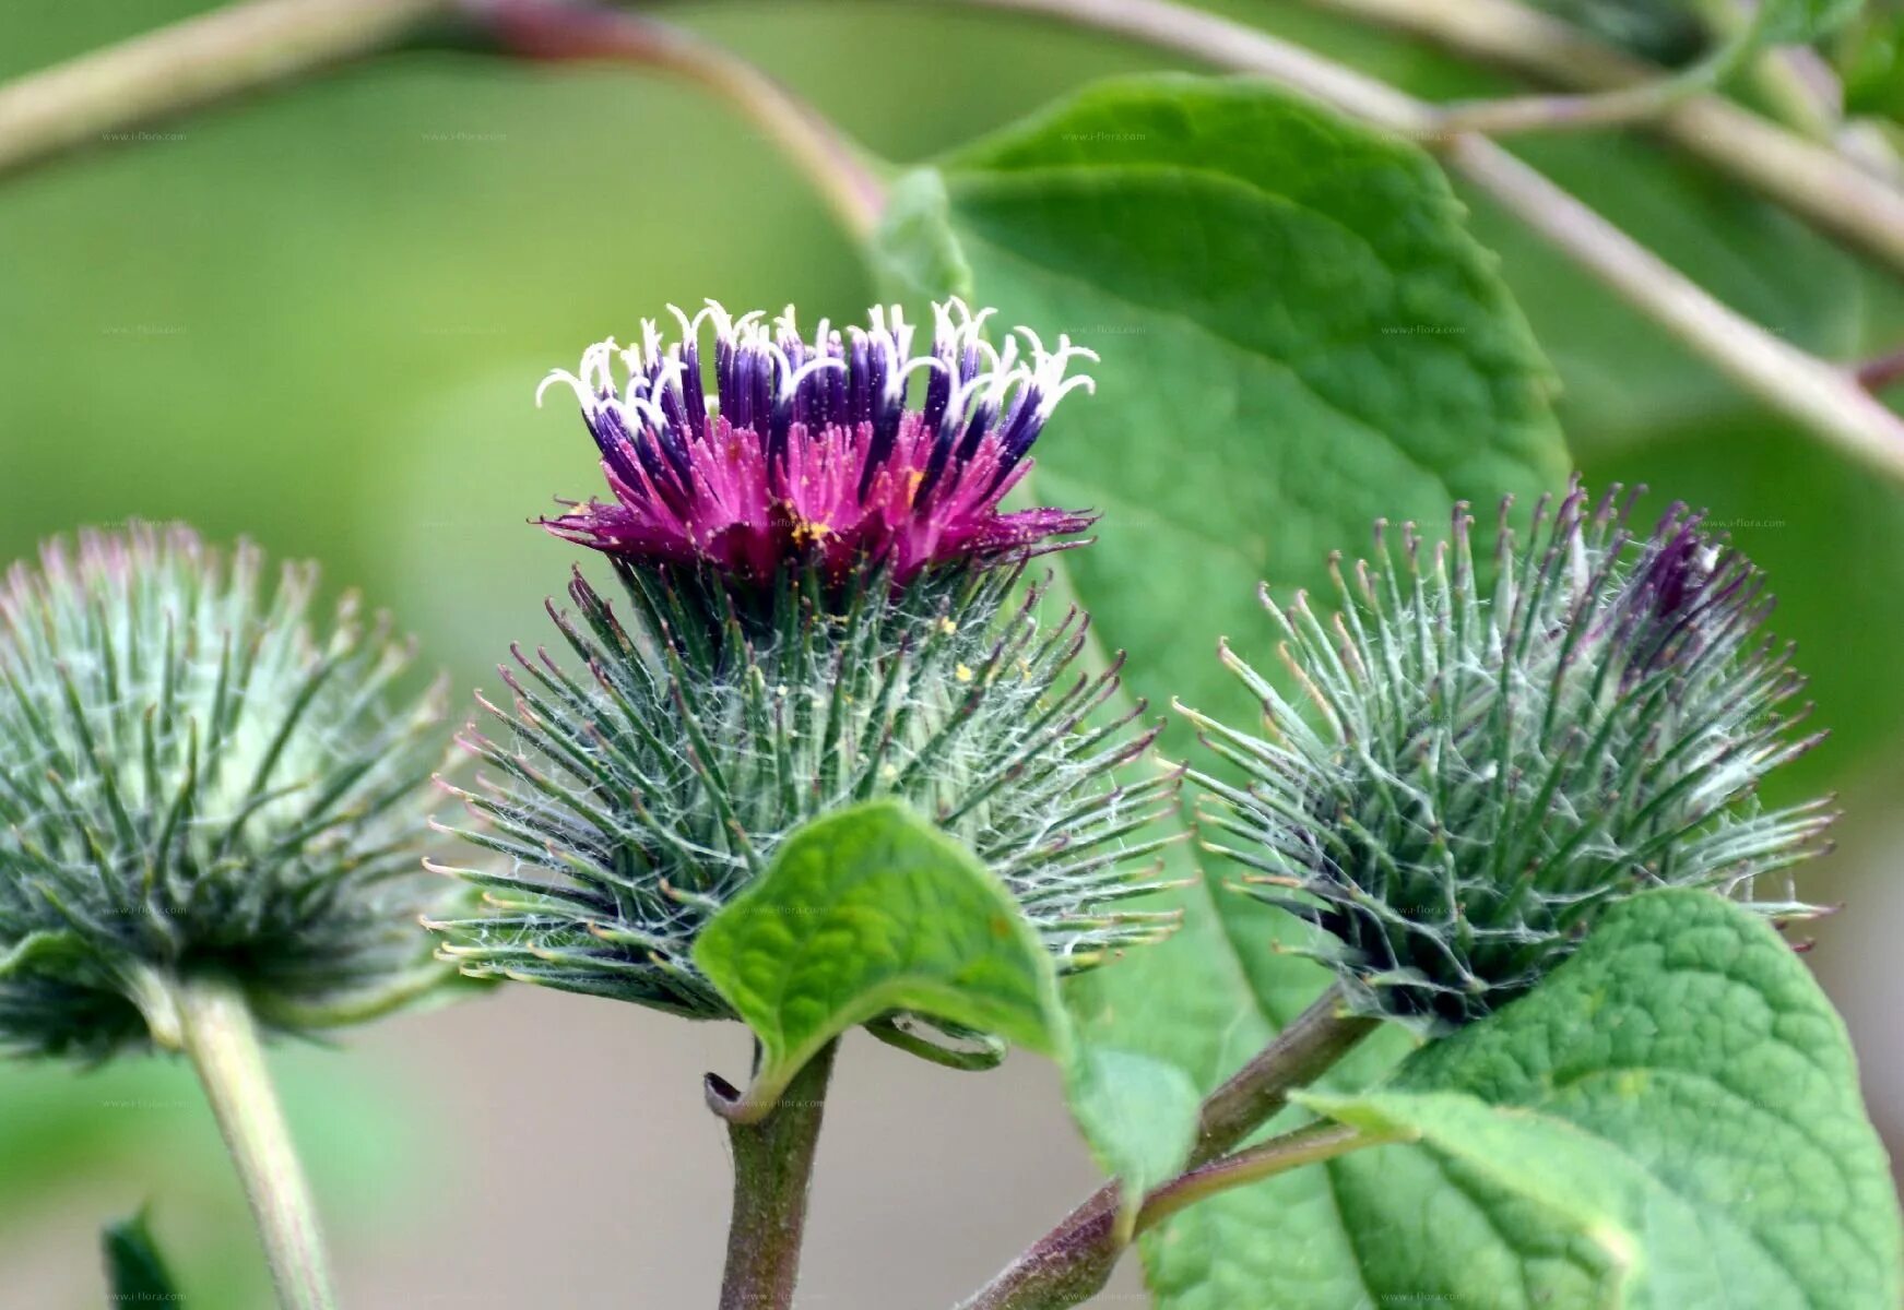
<path id="1" fill-rule="evenodd" d="M 1045 350 L 1021 328 L 994 348 L 990 310 L 935 305 L 937 331 L 912 352 L 899 307 L 874 308 L 872 328 L 811 341 L 794 310 L 729 318 L 708 301 L 695 318 L 672 305 L 682 339 L 663 345 L 653 320 L 642 345 L 613 339 L 583 352 L 581 373 L 556 369 L 537 392 L 567 383 L 602 449 L 613 503 L 590 499 L 543 524 L 630 566 L 708 566 L 746 581 L 783 566 L 830 581 L 889 569 L 895 585 L 956 562 L 1017 562 L 1064 545 L 1091 514 L 1000 512 L 1032 466 L 1026 457 L 1053 407 L 1087 377 L 1064 377 L 1072 356 L 1097 356 L 1059 337 Z M 701 326 L 714 322 L 714 381 L 701 377 Z M 617 388 L 621 358 L 626 385 Z M 906 392 L 925 375 L 918 407 Z"/>

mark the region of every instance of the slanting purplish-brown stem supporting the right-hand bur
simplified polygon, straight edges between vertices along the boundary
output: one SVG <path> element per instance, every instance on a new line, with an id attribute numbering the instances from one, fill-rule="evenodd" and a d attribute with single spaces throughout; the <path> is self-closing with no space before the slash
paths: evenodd
<path id="1" fill-rule="evenodd" d="M 1196 1175 L 1274 1118 L 1289 1102 L 1291 1091 L 1316 1082 L 1377 1026 L 1377 1021 L 1342 1009 L 1339 986 L 1316 998 L 1274 1042 L 1203 1101 L 1198 1144 L 1190 1156 L 1192 1171 L 1152 1192 L 1144 1209 L 1148 1211 L 1152 1200 Z M 1232 1186 L 1249 1181 L 1245 1175 L 1236 1177 L 1238 1182 Z M 1116 1181 L 1101 1186 L 1057 1228 L 1007 1264 L 965 1302 L 963 1310 L 1062 1310 L 1093 1297 L 1110 1280 L 1110 1270 L 1123 1255 L 1125 1243 L 1118 1234 L 1120 1198 L 1121 1188 Z M 1165 1209 L 1148 1221 L 1144 1211 L 1139 1211 L 1137 1230 L 1161 1222 L 1190 1200 L 1163 1200 L 1160 1203 Z"/>

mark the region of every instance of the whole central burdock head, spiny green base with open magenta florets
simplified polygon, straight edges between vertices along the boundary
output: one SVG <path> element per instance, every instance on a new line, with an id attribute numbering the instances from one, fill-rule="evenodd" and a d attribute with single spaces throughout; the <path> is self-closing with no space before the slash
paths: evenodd
<path id="1" fill-rule="evenodd" d="M 731 1017 L 691 963 L 701 927 L 796 826 L 876 796 L 967 842 L 1061 969 L 1161 935 L 1169 916 L 1118 903 L 1158 887 L 1146 826 L 1177 779 L 1121 779 L 1154 737 L 1142 705 L 1108 712 L 1116 668 L 1074 672 L 1087 619 L 1041 621 L 1021 586 L 1089 520 L 998 508 L 1083 381 L 1059 381 L 1076 347 L 1021 364 L 958 303 L 923 356 L 897 310 L 811 345 L 790 314 L 777 337 L 708 316 L 718 404 L 697 324 L 668 350 L 649 326 L 619 396 L 609 347 L 569 379 L 617 503 L 550 527 L 609 556 L 625 607 L 577 571 L 573 613 L 550 607 L 573 663 L 518 649 L 514 705 L 466 737 L 487 777 L 457 792 L 482 821 L 463 836 L 514 868 L 451 870 L 489 908 L 436 923 L 444 954 Z"/>

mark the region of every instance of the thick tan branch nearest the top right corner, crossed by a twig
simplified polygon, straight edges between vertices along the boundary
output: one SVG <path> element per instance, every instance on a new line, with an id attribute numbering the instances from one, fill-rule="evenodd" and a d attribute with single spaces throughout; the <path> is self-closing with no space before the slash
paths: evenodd
<path id="1" fill-rule="evenodd" d="M 1308 0 L 1445 50 L 1577 89 L 1656 80 L 1660 69 L 1516 0 Z M 1904 192 L 1837 150 L 1721 95 L 1695 95 L 1651 124 L 1668 141 L 1904 272 Z"/>

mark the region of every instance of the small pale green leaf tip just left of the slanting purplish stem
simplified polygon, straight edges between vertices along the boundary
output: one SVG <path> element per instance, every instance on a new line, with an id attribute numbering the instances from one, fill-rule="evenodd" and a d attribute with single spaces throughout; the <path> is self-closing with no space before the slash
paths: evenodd
<path id="1" fill-rule="evenodd" d="M 1118 1228 L 1129 1240 L 1144 1194 L 1190 1160 L 1203 1099 L 1175 1064 L 1095 1045 L 1078 1049 L 1064 1093 L 1104 1173 L 1123 1181 Z"/>

